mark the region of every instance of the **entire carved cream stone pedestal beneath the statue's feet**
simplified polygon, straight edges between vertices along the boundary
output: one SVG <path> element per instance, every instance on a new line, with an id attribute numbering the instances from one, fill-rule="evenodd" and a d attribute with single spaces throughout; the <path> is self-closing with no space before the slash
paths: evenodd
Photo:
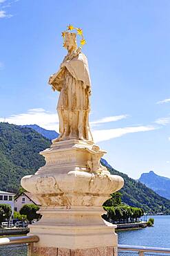
<path id="1" fill-rule="evenodd" d="M 116 255 L 115 226 L 105 225 L 101 205 L 123 179 L 100 165 L 105 152 L 92 142 L 63 140 L 41 154 L 45 166 L 21 179 L 41 202 L 42 218 L 28 234 L 39 236 L 32 255 Z"/>

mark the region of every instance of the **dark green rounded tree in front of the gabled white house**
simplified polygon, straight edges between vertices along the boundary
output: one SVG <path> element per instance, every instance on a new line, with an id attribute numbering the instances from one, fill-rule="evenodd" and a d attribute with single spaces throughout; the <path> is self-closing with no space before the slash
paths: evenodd
<path id="1" fill-rule="evenodd" d="M 26 215 L 28 221 L 32 221 L 33 219 L 40 219 L 41 214 L 36 213 L 39 210 L 39 206 L 34 204 L 25 204 L 19 211 L 21 215 Z"/>

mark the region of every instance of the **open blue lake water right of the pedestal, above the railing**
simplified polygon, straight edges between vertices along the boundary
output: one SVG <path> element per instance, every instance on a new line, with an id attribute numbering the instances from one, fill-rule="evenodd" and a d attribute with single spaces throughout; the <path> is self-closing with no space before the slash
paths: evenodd
<path id="1" fill-rule="evenodd" d="M 170 216 L 151 217 L 155 220 L 154 227 L 117 231 L 118 244 L 170 248 Z"/>

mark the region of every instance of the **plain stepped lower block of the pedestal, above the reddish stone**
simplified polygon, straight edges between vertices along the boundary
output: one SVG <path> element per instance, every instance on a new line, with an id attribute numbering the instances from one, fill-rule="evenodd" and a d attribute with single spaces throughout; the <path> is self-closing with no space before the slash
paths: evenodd
<path id="1" fill-rule="evenodd" d="M 41 220 L 29 226 L 28 235 L 38 235 L 38 247 L 67 249 L 117 246 L 116 225 L 101 218 L 101 207 L 41 208 Z"/>

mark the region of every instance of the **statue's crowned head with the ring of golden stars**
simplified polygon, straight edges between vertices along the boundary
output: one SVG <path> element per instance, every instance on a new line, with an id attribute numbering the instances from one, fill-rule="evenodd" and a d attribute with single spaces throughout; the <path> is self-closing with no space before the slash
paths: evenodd
<path id="1" fill-rule="evenodd" d="M 75 30 L 76 33 L 71 32 Z M 83 30 L 81 28 L 74 28 L 74 26 L 67 26 L 67 30 L 62 32 L 63 37 L 63 46 L 67 48 L 67 51 L 75 51 L 77 48 L 76 44 L 76 36 L 79 35 L 81 37 L 81 47 L 86 44 L 85 39 L 83 37 Z"/>

